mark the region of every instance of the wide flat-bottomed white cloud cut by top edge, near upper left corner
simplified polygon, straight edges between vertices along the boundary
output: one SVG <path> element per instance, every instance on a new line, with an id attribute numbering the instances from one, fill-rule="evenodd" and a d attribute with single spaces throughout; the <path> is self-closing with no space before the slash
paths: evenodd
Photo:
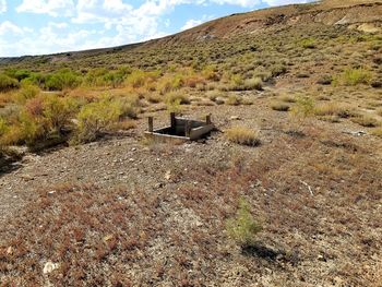
<path id="1" fill-rule="evenodd" d="M 50 16 L 72 14 L 74 9 L 73 0 L 23 0 L 16 11 L 36 14 L 48 14 Z"/>

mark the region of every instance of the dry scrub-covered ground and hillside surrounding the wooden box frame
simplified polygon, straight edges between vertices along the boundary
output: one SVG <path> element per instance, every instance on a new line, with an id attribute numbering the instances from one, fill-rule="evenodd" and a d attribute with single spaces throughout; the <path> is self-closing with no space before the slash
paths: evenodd
<path id="1" fill-rule="evenodd" d="M 382 2 L 0 59 L 0 286 L 382 286 Z M 144 136 L 212 115 L 194 142 Z"/>

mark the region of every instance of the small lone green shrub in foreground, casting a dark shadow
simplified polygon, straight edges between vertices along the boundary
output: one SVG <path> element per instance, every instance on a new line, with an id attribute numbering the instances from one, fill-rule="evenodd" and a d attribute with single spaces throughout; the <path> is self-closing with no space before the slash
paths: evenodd
<path id="1" fill-rule="evenodd" d="M 250 206 L 244 199 L 240 199 L 236 217 L 226 222 L 226 230 L 241 247 L 253 246 L 256 236 L 262 230 L 261 225 L 253 218 Z"/>

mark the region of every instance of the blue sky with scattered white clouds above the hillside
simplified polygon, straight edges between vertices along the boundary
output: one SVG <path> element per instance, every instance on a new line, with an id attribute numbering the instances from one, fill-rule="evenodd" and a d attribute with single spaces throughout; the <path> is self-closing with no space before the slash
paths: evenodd
<path id="1" fill-rule="evenodd" d="M 0 57 L 112 47 L 311 0 L 0 0 Z"/>

